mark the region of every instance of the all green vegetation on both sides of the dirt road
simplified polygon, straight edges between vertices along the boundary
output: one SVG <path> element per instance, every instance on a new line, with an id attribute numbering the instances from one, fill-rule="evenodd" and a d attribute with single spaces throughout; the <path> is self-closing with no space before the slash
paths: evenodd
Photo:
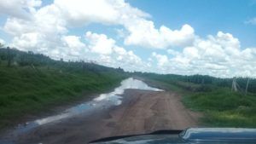
<path id="1" fill-rule="evenodd" d="M 0 47 L 3 47 L 3 45 Z M 160 89 L 183 95 L 183 103 L 203 112 L 213 127 L 256 128 L 256 79 L 124 72 L 93 62 L 52 60 L 17 49 L 0 49 L 0 129 L 38 112 L 106 92 L 128 76 L 144 78 Z M 151 83 L 154 82 L 154 83 Z M 249 83 L 248 83 L 249 82 Z"/>

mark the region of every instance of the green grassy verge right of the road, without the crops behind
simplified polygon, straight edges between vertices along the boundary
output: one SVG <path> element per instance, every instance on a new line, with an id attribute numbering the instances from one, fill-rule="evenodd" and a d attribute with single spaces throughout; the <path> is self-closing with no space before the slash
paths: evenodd
<path id="1" fill-rule="evenodd" d="M 202 112 L 201 124 L 209 127 L 256 128 L 256 95 L 232 92 L 229 87 L 214 84 L 193 84 L 165 76 L 147 77 L 164 89 L 183 95 L 183 103 Z M 172 80 L 170 80 L 172 79 Z"/>

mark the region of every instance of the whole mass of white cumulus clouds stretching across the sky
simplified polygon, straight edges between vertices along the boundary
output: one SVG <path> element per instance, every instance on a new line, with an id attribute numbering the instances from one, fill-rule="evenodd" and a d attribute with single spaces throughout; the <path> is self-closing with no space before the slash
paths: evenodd
<path id="1" fill-rule="evenodd" d="M 241 49 L 238 38 L 230 33 L 199 37 L 189 24 L 177 30 L 164 25 L 156 27 L 150 14 L 124 0 L 55 0 L 44 7 L 41 3 L 0 0 L 0 14 L 9 16 L 3 31 L 13 36 L 12 46 L 55 59 L 97 60 L 105 66 L 122 66 L 128 71 L 255 76 L 256 48 Z M 69 32 L 73 26 L 93 23 L 121 26 L 117 32 L 125 46 L 164 49 L 167 54 L 153 53 L 148 60 L 142 60 L 107 34 L 86 32 L 81 37 Z M 247 23 L 254 24 L 255 20 Z"/>

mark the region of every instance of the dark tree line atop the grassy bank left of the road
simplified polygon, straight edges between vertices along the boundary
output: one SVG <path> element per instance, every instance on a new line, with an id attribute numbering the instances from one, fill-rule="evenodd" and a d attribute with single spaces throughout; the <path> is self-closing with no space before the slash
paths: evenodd
<path id="1" fill-rule="evenodd" d="M 2 63 L 2 64 L 1 64 Z M 4 64 L 3 64 L 4 63 Z M 38 66 L 45 68 L 59 69 L 67 72 L 124 72 L 121 68 L 113 68 L 108 66 L 97 65 L 94 62 L 84 60 L 53 60 L 49 56 L 35 54 L 32 51 L 20 51 L 18 49 L 0 48 L 0 65 L 6 66 Z"/>

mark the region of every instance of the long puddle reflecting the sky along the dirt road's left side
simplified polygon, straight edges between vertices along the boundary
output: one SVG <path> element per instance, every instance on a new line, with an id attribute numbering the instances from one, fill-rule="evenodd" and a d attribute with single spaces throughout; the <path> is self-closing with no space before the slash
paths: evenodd
<path id="1" fill-rule="evenodd" d="M 79 114 L 86 115 L 98 109 L 118 106 L 122 103 L 122 96 L 120 95 L 124 94 L 125 89 L 146 89 L 153 91 L 162 91 L 161 89 L 149 87 L 147 84 L 143 83 L 143 81 L 134 78 L 127 78 L 123 80 L 120 86 L 115 88 L 113 92 L 99 95 L 92 101 L 87 101 L 75 107 L 68 108 L 66 111 L 61 112 L 60 114 L 47 118 L 37 119 L 26 124 L 20 124 L 15 131 L 18 133 L 26 132 L 27 130 L 32 130 L 33 128 L 43 124 L 61 121 L 61 119 L 64 118 L 71 118 Z"/>

